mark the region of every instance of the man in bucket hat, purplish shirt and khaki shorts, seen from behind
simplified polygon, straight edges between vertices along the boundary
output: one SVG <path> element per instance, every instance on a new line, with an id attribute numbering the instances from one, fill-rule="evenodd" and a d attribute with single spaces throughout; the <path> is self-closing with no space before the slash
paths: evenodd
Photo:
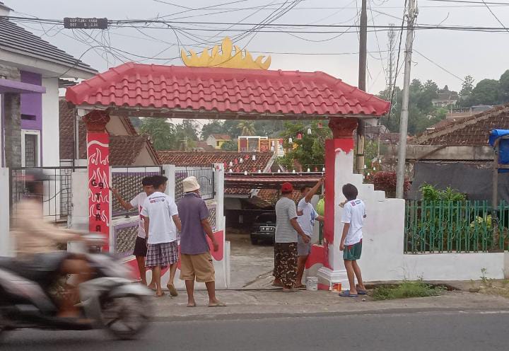
<path id="1" fill-rule="evenodd" d="M 185 196 L 178 202 L 182 221 L 180 234 L 180 279 L 185 280 L 187 307 L 195 307 L 194 280 L 204 282 L 209 293 L 209 307 L 226 306 L 216 299 L 216 277 L 206 236 L 212 241 L 213 250 L 219 246 L 209 223 L 209 209 L 199 196 L 200 185 L 195 177 L 182 180 Z"/>

